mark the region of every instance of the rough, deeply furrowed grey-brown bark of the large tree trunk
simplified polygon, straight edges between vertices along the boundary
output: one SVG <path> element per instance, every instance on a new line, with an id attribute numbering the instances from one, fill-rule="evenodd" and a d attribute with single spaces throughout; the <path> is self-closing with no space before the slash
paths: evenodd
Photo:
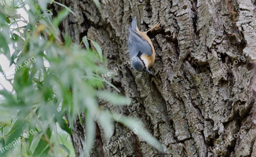
<path id="1" fill-rule="evenodd" d="M 110 139 L 97 126 L 91 156 L 256 156 L 255 0 L 113 0 L 106 5 L 101 0 L 103 18 L 92 0 L 59 2 L 76 14 L 62 23 L 62 35 L 74 43 L 85 35 L 95 40 L 106 59 L 103 66 L 112 70 L 129 59 L 127 25 L 134 16 L 140 30 L 163 22 L 148 33 L 159 58 L 151 68 L 154 76 L 124 67 L 107 80 L 132 103 L 99 102 L 103 109 L 144 122 L 164 153 L 135 135 L 104 151 L 129 132 L 116 122 Z M 62 9 L 52 8 L 55 14 Z M 74 126 L 80 157 L 85 126 L 79 121 Z M 244 135 L 211 150 L 243 130 Z"/>

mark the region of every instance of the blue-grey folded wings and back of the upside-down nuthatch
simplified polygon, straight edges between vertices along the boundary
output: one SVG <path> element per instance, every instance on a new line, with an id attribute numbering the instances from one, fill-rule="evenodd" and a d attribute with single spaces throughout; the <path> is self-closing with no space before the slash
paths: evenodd
<path id="1" fill-rule="evenodd" d="M 130 57 L 138 56 L 139 52 L 151 56 L 153 52 L 148 41 L 135 32 L 130 26 L 127 28 L 129 31 L 128 38 Z"/>

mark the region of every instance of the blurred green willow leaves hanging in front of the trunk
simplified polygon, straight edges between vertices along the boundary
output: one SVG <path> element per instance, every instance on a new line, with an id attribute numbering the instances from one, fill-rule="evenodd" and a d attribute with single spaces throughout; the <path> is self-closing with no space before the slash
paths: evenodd
<path id="1" fill-rule="evenodd" d="M 60 132 L 72 135 L 77 116 L 81 125 L 84 124 L 82 112 L 86 125 L 85 153 L 88 154 L 94 144 L 95 121 L 103 127 L 106 137 L 110 137 L 117 120 L 115 114 L 100 109 L 98 98 L 116 105 L 131 103 L 130 99 L 103 89 L 105 82 L 120 92 L 99 76 L 105 70 L 98 66 L 103 61 L 99 44 L 85 36 L 80 43 L 84 42 L 84 50 L 80 45 L 75 46 L 68 35 L 61 43 L 58 25 L 69 12 L 74 12 L 63 4 L 54 3 L 63 7 L 54 18 L 52 11 L 46 8 L 52 0 L 21 0 L 0 5 L 0 54 L 10 61 L 10 66 L 22 65 L 11 78 L 0 66 L 5 80 L 12 85 L 12 91 L 0 90 L 0 148 L 13 141 L 17 143 L 3 153 L 0 151 L 0 156 L 71 155 L 73 148 L 68 145 L 67 137 L 63 141 Z M 28 14 L 28 20 L 18 14 L 18 9 Z M 88 40 L 97 52 L 89 48 Z M 137 127 L 141 137 L 161 150 L 161 144 L 138 121 L 121 117 L 120 122 L 130 129 Z M 20 152 L 13 152 L 14 149 Z"/>

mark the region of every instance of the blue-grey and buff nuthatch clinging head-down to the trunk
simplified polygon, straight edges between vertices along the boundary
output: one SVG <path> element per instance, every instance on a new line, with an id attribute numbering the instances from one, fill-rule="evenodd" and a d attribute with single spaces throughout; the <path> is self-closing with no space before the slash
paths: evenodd
<path id="1" fill-rule="evenodd" d="M 130 57 L 136 57 L 136 61 L 132 60 L 132 67 L 136 71 L 146 71 L 153 75 L 148 69 L 153 66 L 156 58 L 154 46 L 147 33 L 159 27 L 161 23 L 146 32 L 141 32 L 136 23 L 136 16 L 132 19 L 132 27 L 127 26 L 129 34 L 129 53 Z"/>

